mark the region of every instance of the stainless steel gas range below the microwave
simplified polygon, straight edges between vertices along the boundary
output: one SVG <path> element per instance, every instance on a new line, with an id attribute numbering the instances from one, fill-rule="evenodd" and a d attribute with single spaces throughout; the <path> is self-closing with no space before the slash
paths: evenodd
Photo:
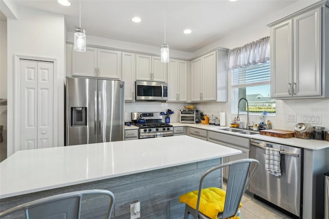
<path id="1" fill-rule="evenodd" d="M 137 123 L 140 115 L 145 119 L 145 123 Z M 173 136 L 173 126 L 162 122 L 160 112 L 132 113 L 132 123 L 139 127 L 139 138 Z"/>

